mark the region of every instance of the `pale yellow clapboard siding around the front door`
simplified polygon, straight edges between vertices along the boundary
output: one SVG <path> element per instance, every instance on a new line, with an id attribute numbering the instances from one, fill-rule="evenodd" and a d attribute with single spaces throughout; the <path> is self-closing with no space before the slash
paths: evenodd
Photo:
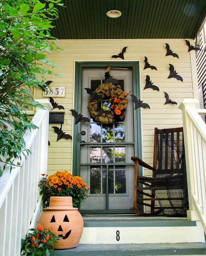
<path id="1" fill-rule="evenodd" d="M 60 78 L 47 76 L 47 80 L 52 80 L 51 86 L 65 86 L 66 97 L 54 98 L 54 100 L 65 108 L 64 124 L 62 130 L 73 136 L 73 117 L 69 109 L 73 109 L 73 91 L 74 91 L 74 72 L 75 61 L 123 61 L 122 59 L 111 59 L 113 54 L 118 54 L 124 46 L 128 46 L 124 54 L 124 61 L 140 61 L 140 86 L 141 99 L 148 103 L 150 109 L 141 109 L 142 128 L 143 128 L 143 157 L 144 160 L 152 164 L 153 160 L 153 134 L 154 128 L 171 128 L 182 126 L 182 114 L 178 106 L 183 98 L 193 98 L 193 80 L 190 63 L 190 53 L 188 46 L 183 39 L 98 39 L 98 40 L 61 40 L 56 42 L 63 51 L 51 52 L 49 61 L 55 62 L 62 69 L 52 69 L 60 74 Z M 179 55 L 179 59 L 172 56 L 165 56 L 165 43 L 170 45 L 173 52 Z M 144 56 L 148 58 L 151 65 L 157 67 L 157 70 L 144 69 Z M 183 78 L 183 82 L 175 78 L 168 79 L 170 74 L 169 65 L 171 63 L 175 70 Z M 112 69 L 111 69 L 112 74 Z M 146 75 L 150 76 L 154 85 L 157 85 L 160 91 L 144 89 Z M 102 74 L 104 77 L 104 74 Z M 171 105 L 165 103 L 164 91 L 169 94 L 171 100 L 178 103 Z M 42 90 L 36 88 L 35 98 L 42 98 Z M 131 100 L 129 104 L 131 104 Z M 59 110 L 57 110 L 59 111 Z M 53 110 L 55 112 L 55 109 Z M 66 120 L 69 124 L 66 124 Z M 60 124 L 49 124 L 48 147 L 48 173 L 54 173 L 57 170 L 71 170 L 71 152 L 72 143 L 70 139 L 57 140 L 57 134 L 54 133 L 51 126 Z M 61 160 L 61 161 L 59 161 Z M 58 163 L 56 162 L 58 161 Z M 145 170 L 146 175 L 151 175 L 149 170 Z"/>

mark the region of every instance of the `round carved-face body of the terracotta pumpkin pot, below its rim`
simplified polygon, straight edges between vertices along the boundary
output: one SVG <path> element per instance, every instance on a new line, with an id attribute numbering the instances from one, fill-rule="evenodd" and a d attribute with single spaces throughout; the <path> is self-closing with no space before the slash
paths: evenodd
<path id="1" fill-rule="evenodd" d="M 49 228 L 56 236 L 62 237 L 55 244 L 55 249 L 76 247 L 82 236 L 83 220 L 77 210 L 44 211 L 38 224 Z"/>

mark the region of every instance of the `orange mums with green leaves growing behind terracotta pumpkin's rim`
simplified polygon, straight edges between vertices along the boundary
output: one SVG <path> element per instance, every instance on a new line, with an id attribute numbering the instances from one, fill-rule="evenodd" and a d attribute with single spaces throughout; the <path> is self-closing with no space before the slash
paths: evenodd
<path id="1" fill-rule="evenodd" d="M 57 171 L 47 176 L 42 174 L 39 182 L 40 195 L 45 206 L 49 206 L 50 197 L 72 197 L 73 206 L 80 208 L 80 203 L 88 197 L 88 186 L 79 176 L 72 176 L 68 171 Z"/>

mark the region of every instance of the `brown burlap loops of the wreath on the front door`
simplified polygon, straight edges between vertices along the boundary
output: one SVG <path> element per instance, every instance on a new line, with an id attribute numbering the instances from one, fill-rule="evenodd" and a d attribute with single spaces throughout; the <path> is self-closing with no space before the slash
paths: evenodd
<path id="1" fill-rule="evenodd" d="M 97 89 L 95 89 L 95 93 L 100 94 L 102 96 L 102 99 L 105 98 L 111 98 L 111 97 L 117 97 L 120 100 L 125 100 L 125 102 L 121 102 L 121 104 L 124 107 L 124 110 L 127 108 L 128 99 L 125 97 L 125 92 L 122 91 L 120 85 L 113 85 L 112 83 L 103 83 L 100 84 Z M 118 94 L 119 93 L 119 94 Z M 90 97 L 89 97 L 90 101 Z M 111 110 L 111 113 L 105 114 L 103 113 L 99 117 L 98 115 L 98 103 L 101 102 L 101 99 L 99 100 L 93 100 L 88 104 L 88 109 L 90 115 L 97 121 L 101 122 L 103 124 L 112 124 L 115 122 L 115 113 Z M 125 115 L 125 113 L 124 113 Z"/>

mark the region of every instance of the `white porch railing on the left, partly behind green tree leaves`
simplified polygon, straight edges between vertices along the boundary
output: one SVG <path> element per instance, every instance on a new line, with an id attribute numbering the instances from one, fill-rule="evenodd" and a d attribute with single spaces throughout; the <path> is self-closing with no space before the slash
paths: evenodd
<path id="1" fill-rule="evenodd" d="M 20 166 L 10 165 L 0 178 L 0 255 L 19 256 L 21 239 L 29 228 L 36 226 L 41 210 L 38 181 L 40 174 L 47 172 L 49 133 L 48 100 L 36 100 L 45 106 L 37 109 L 32 122 L 39 127 L 24 135 L 26 147 L 31 150 L 26 158 L 22 154 Z M 18 160 L 14 161 L 17 164 Z"/>

